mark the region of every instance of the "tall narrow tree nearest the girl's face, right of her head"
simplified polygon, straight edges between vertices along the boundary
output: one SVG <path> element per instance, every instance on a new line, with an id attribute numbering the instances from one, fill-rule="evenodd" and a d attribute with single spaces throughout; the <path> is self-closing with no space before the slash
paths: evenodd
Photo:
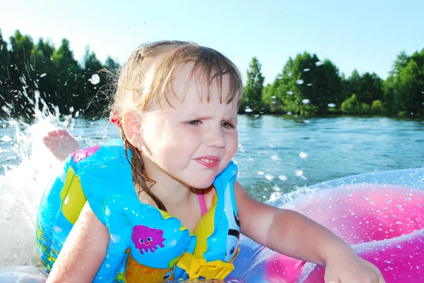
<path id="1" fill-rule="evenodd" d="M 261 108 L 262 90 L 264 89 L 264 76 L 261 73 L 261 64 L 256 57 L 252 58 L 247 70 L 247 83 L 243 90 L 240 109 L 252 109 L 253 112 L 259 112 Z"/>

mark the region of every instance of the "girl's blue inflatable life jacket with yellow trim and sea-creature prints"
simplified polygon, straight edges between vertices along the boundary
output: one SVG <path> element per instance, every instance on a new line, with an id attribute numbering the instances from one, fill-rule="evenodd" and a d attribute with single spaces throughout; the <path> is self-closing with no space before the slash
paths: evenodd
<path id="1" fill-rule="evenodd" d="M 230 162 L 216 176 L 213 205 L 192 234 L 176 217 L 139 201 L 130 151 L 128 156 L 122 140 L 115 140 L 66 159 L 37 212 L 37 252 L 47 271 L 88 201 L 110 232 L 105 260 L 93 282 L 225 278 L 234 268 L 240 238 L 232 186 L 237 165 Z"/>

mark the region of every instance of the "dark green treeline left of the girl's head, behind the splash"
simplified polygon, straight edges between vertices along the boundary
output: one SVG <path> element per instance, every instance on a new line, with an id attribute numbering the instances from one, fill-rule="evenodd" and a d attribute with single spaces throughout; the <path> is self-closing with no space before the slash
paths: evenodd
<path id="1" fill-rule="evenodd" d="M 36 106 L 52 113 L 102 114 L 109 101 L 107 91 L 99 90 L 108 87 L 106 78 L 117 68 L 112 57 L 102 64 L 88 47 L 78 63 L 66 39 L 56 49 L 48 40 L 35 43 L 16 30 L 7 43 L 0 30 L 0 114 L 30 119 L 39 97 Z"/>

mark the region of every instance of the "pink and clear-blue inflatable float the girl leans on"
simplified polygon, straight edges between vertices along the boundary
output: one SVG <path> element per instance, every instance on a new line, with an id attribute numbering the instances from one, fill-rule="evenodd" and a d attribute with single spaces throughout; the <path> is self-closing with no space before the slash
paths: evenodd
<path id="1" fill-rule="evenodd" d="M 424 168 L 351 176 L 305 188 L 294 200 L 293 194 L 269 203 L 301 212 L 334 231 L 361 258 L 377 265 L 387 283 L 424 282 Z M 246 237 L 240 242 L 235 270 L 225 282 L 324 282 L 324 267 Z M 0 283 L 39 283 L 45 278 L 35 267 L 0 268 Z"/>

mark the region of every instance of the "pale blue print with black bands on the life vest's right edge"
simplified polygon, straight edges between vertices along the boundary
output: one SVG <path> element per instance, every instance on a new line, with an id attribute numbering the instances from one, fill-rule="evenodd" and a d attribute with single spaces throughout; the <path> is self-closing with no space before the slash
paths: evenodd
<path id="1" fill-rule="evenodd" d="M 228 262 L 235 257 L 237 246 L 240 241 L 240 220 L 235 215 L 235 204 L 232 202 L 230 185 L 225 188 L 225 215 L 228 219 L 227 252 L 225 261 Z"/>

